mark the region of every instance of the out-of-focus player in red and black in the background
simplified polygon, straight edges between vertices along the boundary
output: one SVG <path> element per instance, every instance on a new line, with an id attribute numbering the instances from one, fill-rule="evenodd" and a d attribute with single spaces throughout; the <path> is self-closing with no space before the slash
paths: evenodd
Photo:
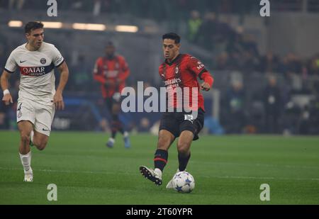
<path id="1" fill-rule="evenodd" d="M 130 74 L 128 64 L 124 57 L 115 55 L 115 47 L 112 42 L 106 45 L 106 56 L 99 57 L 94 67 L 94 79 L 101 83 L 103 99 L 106 101 L 108 111 L 111 113 L 111 137 L 106 142 L 107 147 L 113 147 L 116 133 L 120 131 L 124 137 L 125 147 L 130 147 L 128 132 L 118 118 L 121 111 L 121 91 L 125 87 L 125 79 Z"/>

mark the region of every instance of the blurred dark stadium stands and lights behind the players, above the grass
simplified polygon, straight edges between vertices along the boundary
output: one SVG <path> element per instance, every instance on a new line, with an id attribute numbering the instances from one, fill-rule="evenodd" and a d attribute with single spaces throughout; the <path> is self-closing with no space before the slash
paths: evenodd
<path id="1" fill-rule="evenodd" d="M 48 17 L 46 1 L 1 0 L 0 66 L 25 42 L 27 21 L 59 22 L 45 23 L 45 40 L 64 55 L 70 78 L 67 108 L 56 113 L 53 129 L 103 130 L 101 121 L 107 113 L 92 70 L 96 58 L 104 55 L 106 42 L 113 40 L 128 61 L 128 86 L 143 81 L 158 87 L 161 36 L 174 31 L 182 37 L 181 52 L 198 57 L 215 77 L 213 91 L 205 94 L 203 133 L 316 135 L 319 1 L 272 1 L 271 16 L 265 18 L 259 15 L 261 7 L 254 0 L 73 0 L 58 1 L 58 16 Z M 74 23 L 104 27 L 79 30 Z M 13 94 L 18 77 L 13 74 L 11 79 Z M 1 129 L 16 129 L 15 107 L 1 103 Z M 159 119 L 155 115 L 128 113 L 121 119 L 130 130 L 148 132 Z"/>

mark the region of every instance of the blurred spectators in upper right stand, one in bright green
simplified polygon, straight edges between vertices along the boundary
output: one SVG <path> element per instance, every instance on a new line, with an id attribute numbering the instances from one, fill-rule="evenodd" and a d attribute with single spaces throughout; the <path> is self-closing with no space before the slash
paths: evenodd
<path id="1" fill-rule="evenodd" d="M 319 75 L 319 53 L 310 59 L 289 53 L 279 57 L 272 51 L 260 55 L 254 36 L 231 28 L 227 22 L 218 21 L 216 13 L 205 13 L 203 18 L 198 11 L 191 11 L 188 21 L 187 38 L 214 54 L 211 68 L 217 70 L 239 70 L 251 72 L 278 72 Z"/>

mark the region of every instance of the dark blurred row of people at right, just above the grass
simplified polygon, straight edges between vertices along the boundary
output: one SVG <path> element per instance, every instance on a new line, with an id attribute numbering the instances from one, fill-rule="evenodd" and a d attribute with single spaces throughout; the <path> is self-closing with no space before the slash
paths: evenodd
<path id="1" fill-rule="evenodd" d="M 300 94 L 286 81 L 279 83 L 276 74 L 266 78 L 265 86 L 257 84 L 259 89 L 252 89 L 247 81 L 230 82 L 221 100 L 220 123 L 225 132 L 318 135 L 319 80 L 313 91 Z"/>

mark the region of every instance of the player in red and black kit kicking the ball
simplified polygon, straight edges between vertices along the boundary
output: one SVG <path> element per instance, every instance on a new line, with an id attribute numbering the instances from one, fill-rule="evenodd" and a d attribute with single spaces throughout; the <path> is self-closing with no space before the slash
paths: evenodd
<path id="1" fill-rule="evenodd" d="M 159 66 L 159 75 L 162 77 L 166 88 L 180 87 L 181 89 L 189 88 L 189 90 L 194 88 L 197 91 L 198 101 L 197 104 L 194 101 L 192 103 L 192 114 L 185 113 L 185 111 L 167 111 L 162 115 L 157 150 L 154 157 L 155 169 L 145 166 L 140 167 L 142 176 L 150 179 L 158 186 L 162 184 L 162 172 L 167 164 L 169 147 L 177 137 L 179 137 L 177 141 L 179 159 L 177 172 L 186 171 L 187 163 L 191 157 L 191 142 L 198 139 L 198 133 L 203 128 L 204 122 L 203 96 L 199 89 L 208 91 L 213 85 L 213 77 L 199 60 L 188 54 L 179 54 L 179 35 L 167 33 L 162 36 L 162 40 L 165 61 Z M 197 77 L 202 79 L 203 83 L 198 84 Z M 182 99 L 182 102 L 185 103 L 184 97 Z M 177 106 L 176 101 L 180 102 L 174 97 L 174 106 Z M 196 106 L 196 108 L 193 106 Z M 194 111 L 196 111 L 197 117 L 194 120 L 189 119 L 192 118 L 191 115 L 194 114 Z M 173 188 L 172 180 L 169 181 L 166 188 Z"/>

